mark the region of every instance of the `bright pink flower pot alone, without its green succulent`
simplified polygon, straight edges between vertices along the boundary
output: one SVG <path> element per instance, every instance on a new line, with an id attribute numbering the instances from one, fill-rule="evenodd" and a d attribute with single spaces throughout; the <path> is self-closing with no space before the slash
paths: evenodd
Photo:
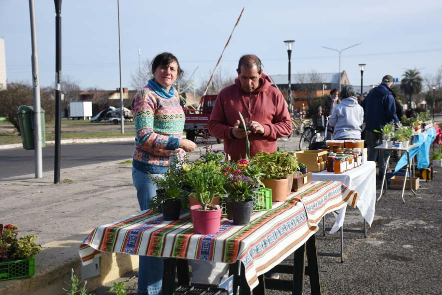
<path id="1" fill-rule="evenodd" d="M 194 233 L 202 235 L 212 235 L 220 231 L 221 225 L 221 209 L 218 210 L 197 210 L 200 205 L 190 208 L 192 220 L 194 224 Z"/>

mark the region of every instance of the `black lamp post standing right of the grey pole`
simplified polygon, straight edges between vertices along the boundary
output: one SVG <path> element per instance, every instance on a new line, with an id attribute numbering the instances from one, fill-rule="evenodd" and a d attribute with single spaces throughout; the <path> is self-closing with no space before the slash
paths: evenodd
<path id="1" fill-rule="evenodd" d="M 61 0 L 55 4 L 55 158 L 54 183 L 60 182 L 61 160 Z"/>

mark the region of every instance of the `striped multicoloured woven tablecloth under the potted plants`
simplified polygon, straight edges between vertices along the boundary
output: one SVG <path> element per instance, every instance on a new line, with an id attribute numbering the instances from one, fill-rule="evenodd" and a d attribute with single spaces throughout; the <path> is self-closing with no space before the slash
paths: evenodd
<path id="1" fill-rule="evenodd" d="M 253 212 L 246 226 L 221 219 L 215 235 L 194 234 L 189 212 L 182 212 L 180 220 L 164 221 L 159 213 L 141 211 L 94 229 L 79 253 L 83 265 L 103 252 L 224 263 L 239 260 L 248 285 L 254 288 L 259 275 L 314 235 L 322 216 L 347 204 L 355 207 L 356 199 L 357 193 L 341 182 L 313 182 L 290 194 L 286 202 Z"/>

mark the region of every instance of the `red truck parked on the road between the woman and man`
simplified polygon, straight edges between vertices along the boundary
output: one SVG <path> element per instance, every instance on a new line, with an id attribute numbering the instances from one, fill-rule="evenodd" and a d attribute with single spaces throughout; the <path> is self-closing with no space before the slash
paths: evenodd
<path id="1" fill-rule="evenodd" d="M 209 123 L 217 96 L 218 95 L 203 96 L 197 109 L 183 108 L 186 114 L 184 130 L 186 130 L 187 139 L 195 142 L 198 136 L 210 136 L 207 124 Z M 221 143 L 222 139 L 217 138 L 217 142 Z"/>

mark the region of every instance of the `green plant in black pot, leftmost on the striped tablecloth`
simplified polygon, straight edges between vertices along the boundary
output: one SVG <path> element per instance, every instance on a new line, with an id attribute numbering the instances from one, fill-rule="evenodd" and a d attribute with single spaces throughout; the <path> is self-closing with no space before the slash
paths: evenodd
<path id="1" fill-rule="evenodd" d="M 161 211 L 166 221 L 180 219 L 182 185 L 184 179 L 183 165 L 181 162 L 169 167 L 161 177 L 151 177 L 157 185 L 157 196 L 151 200 L 151 209 Z"/>

